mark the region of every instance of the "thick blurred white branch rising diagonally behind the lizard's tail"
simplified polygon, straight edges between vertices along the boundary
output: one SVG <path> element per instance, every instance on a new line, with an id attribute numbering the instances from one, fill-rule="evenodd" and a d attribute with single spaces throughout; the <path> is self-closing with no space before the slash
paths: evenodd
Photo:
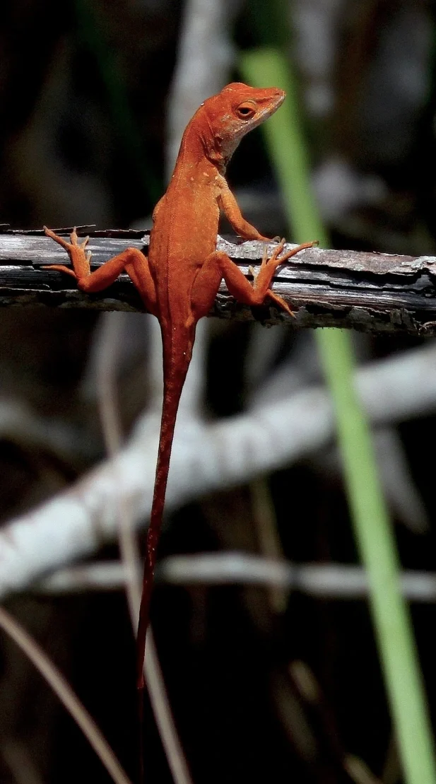
<path id="1" fill-rule="evenodd" d="M 436 348 L 365 365 L 356 374 L 373 423 L 398 422 L 436 408 Z M 118 498 L 136 524 L 147 521 L 154 485 L 159 416 L 144 416 L 120 454 L 0 532 L 0 595 L 95 552 L 117 532 Z M 332 440 L 334 417 L 322 387 L 265 401 L 218 423 L 187 416 L 176 425 L 167 510 L 213 489 L 245 483 L 307 456 Z M 114 465 L 118 481 L 114 482 Z"/>

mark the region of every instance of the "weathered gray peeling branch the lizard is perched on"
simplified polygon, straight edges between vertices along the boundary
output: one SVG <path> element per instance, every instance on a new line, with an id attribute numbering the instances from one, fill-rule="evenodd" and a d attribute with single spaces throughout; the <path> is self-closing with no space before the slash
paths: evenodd
<path id="1" fill-rule="evenodd" d="M 95 266 L 129 245 L 147 252 L 149 237 L 145 232 L 106 230 L 89 234 Z M 219 238 L 218 248 L 226 251 L 248 277 L 249 265 L 256 270 L 263 253 L 261 242 Z M 110 289 L 87 296 L 75 289 L 69 276 L 42 269 L 42 265 L 66 260 L 63 249 L 40 231 L 0 233 L 0 307 L 33 304 L 144 310 L 127 275 L 121 275 Z M 221 318 L 256 318 L 266 324 L 289 321 L 300 327 L 338 326 L 418 335 L 436 332 L 434 256 L 308 249 L 279 270 L 274 291 L 297 311 L 295 319 L 271 303 L 253 309 L 243 307 L 234 302 L 223 284 L 213 314 Z"/>

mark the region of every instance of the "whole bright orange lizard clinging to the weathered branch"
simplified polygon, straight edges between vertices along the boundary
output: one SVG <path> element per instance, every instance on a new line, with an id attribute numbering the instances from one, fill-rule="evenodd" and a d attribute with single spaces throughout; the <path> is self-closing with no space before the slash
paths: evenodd
<path id="1" fill-rule="evenodd" d="M 263 256 L 253 283 L 223 252 L 217 252 L 216 234 L 220 209 L 234 231 L 245 240 L 269 241 L 242 217 L 224 178 L 227 163 L 245 133 L 260 125 L 285 99 L 282 90 L 254 89 L 234 83 L 202 103 L 183 134 L 180 152 L 165 196 L 153 213 L 148 258 L 129 248 L 91 272 L 88 238 L 71 243 L 45 229 L 45 234 L 64 247 L 73 269 L 53 264 L 78 281 L 84 292 L 98 292 L 114 282 L 124 270 L 129 274 L 147 310 L 161 325 L 164 397 L 158 462 L 147 534 L 144 584 L 137 636 L 137 682 L 144 688 L 144 655 L 156 547 L 162 525 L 171 446 L 180 394 L 191 361 L 197 321 L 209 313 L 222 278 L 239 302 L 260 305 L 268 296 L 292 315 L 285 301 L 271 291 L 271 278 L 279 264 L 314 243 L 299 245 L 280 256 L 284 241 L 271 258 Z"/>

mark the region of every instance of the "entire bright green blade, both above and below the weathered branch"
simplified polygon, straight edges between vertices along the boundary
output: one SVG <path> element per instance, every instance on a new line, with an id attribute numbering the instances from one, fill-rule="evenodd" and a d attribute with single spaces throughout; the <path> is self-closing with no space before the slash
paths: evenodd
<path id="1" fill-rule="evenodd" d="M 256 86 L 285 89 L 281 111 L 263 127 L 282 187 L 293 237 L 329 240 L 311 195 L 307 153 L 296 85 L 278 49 L 245 53 L 243 77 Z M 434 741 L 409 608 L 399 589 L 398 553 L 377 473 L 368 422 L 354 389 L 351 336 L 339 329 L 317 331 L 318 347 L 336 410 L 338 439 L 351 520 L 368 572 L 370 607 L 391 716 L 407 784 L 435 784 Z"/>

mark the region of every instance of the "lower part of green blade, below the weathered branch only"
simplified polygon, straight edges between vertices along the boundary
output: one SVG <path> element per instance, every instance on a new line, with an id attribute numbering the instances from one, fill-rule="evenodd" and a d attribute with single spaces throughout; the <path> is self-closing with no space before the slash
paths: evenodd
<path id="1" fill-rule="evenodd" d="M 354 534 L 368 572 L 372 618 L 405 781 L 434 784 L 434 746 L 410 619 L 401 597 L 394 532 L 380 488 L 372 439 L 354 390 L 351 336 L 321 330 L 318 345 L 336 408 Z"/>

